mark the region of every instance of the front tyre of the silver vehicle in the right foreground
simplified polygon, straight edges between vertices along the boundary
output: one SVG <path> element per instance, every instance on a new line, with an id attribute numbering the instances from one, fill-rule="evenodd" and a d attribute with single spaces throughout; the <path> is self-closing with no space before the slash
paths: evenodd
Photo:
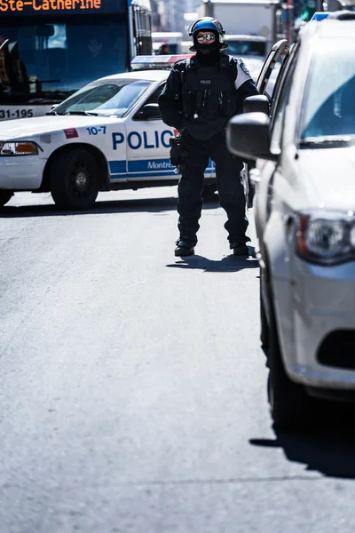
<path id="1" fill-rule="evenodd" d="M 307 395 L 304 386 L 296 384 L 288 378 L 282 362 L 274 316 L 271 318 L 267 395 L 272 420 L 275 427 L 280 429 L 307 427 L 312 423 L 312 418 L 315 414 L 312 398 Z"/>

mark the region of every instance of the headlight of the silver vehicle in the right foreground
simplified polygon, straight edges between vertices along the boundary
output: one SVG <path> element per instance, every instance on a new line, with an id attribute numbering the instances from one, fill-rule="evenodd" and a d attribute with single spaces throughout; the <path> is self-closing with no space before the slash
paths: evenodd
<path id="1" fill-rule="evenodd" d="M 355 259 L 353 211 L 312 211 L 299 214 L 297 254 L 306 261 L 334 265 Z"/>

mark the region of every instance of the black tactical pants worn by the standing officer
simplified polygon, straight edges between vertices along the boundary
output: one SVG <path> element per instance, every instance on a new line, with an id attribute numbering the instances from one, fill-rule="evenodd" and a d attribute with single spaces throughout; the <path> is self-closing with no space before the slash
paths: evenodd
<path id="1" fill-rule="evenodd" d="M 248 219 L 245 216 L 245 194 L 241 184 L 243 163 L 226 147 L 225 131 L 208 140 L 193 139 L 183 133 L 181 144 L 187 152 L 185 167 L 178 183 L 177 212 L 178 230 L 186 240 L 197 243 L 196 233 L 200 227 L 204 171 L 209 157 L 216 163 L 217 190 L 221 207 L 227 214 L 225 229 L 230 243 L 246 243 Z"/>

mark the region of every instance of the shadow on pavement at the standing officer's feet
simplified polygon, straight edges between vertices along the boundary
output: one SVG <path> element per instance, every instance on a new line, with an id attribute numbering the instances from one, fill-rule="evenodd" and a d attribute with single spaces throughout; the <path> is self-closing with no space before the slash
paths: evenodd
<path id="1" fill-rule="evenodd" d="M 251 246 L 249 246 L 251 248 Z M 176 263 L 167 265 L 170 268 L 192 268 L 196 270 L 203 270 L 203 272 L 238 272 L 245 268 L 258 268 L 259 262 L 257 259 L 226 256 L 219 261 L 207 259 L 203 256 L 193 255 L 185 258 L 177 259 Z"/>

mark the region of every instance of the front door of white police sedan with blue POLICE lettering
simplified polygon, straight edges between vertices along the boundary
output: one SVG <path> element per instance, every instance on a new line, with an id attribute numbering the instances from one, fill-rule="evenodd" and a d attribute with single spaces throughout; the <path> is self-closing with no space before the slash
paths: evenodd
<path id="1" fill-rule="evenodd" d="M 126 123 L 128 181 L 177 179 L 169 157 L 170 137 L 175 133 L 162 122 L 158 107 L 164 84 L 146 97 Z"/>

